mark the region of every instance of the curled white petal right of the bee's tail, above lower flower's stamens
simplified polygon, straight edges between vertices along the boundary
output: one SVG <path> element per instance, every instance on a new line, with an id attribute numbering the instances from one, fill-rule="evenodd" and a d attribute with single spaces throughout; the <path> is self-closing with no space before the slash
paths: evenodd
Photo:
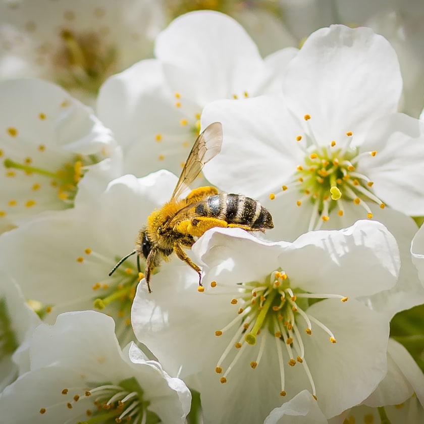
<path id="1" fill-rule="evenodd" d="M 392 288 L 400 268 L 395 238 L 374 221 L 306 233 L 281 253 L 279 263 L 294 287 L 352 297 Z"/>

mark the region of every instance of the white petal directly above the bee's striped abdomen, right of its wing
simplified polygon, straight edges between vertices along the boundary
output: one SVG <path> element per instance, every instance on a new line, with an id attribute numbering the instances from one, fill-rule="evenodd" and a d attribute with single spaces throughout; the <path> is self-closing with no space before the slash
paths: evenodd
<path id="1" fill-rule="evenodd" d="M 224 191 L 256 198 L 281 191 L 303 158 L 296 146 L 300 124 L 278 97 L 217 101 L 205 107 L 201 119 L 202 127 L 217 121 L 223 126 L 221 153 L 203 173 Z"/>

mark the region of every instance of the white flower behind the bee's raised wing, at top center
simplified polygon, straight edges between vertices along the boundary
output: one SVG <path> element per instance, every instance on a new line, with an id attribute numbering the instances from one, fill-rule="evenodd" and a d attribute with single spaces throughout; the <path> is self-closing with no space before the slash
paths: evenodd
<path id="1" fill-rule="evenodd" d="M 232 18 L 211 11 L 174 20 L 155 41 L 155 57 L 111 77 L 100 89 L 98 116 L 122 145 L 125 171 L 181 172 L 210 101 L 276 89 L 294 49 L 262 60 Z"/>

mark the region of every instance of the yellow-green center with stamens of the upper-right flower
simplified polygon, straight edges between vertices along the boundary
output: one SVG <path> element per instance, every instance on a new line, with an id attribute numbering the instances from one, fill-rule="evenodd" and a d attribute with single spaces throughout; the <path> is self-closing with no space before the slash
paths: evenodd
<path id="1" fill-rule="evenodd" d="M 283 185 L 283 191 L 296 188 L 301 193 L 297 200 L 298 206 L 307 200 L 313 203 L 308 231 L 319 229 L 323 222 L 327 222 L 333 209 L 338 209 L 339 216 L 343 216 L 346 202 L 361 205 L 367 218 L 372 219 L 373 214 L 367 201 L 376 202 L 381 208 L 385 204 L 371 190 L 374 182 L 356 168 L 362 156 L 374 157 L 377 151 L 359 153 L 358 147 L 351 146 L 351 131 L 346 133 L 344 140 L 332 140 L 328 145 L 322 146 L 313 135 L 309 126 L 310 119 L 309 115 L 304 116 L 309 129 L 306 143 L 302 144 L 302 136 L 296 138 L 305 153 L 304 163 L 297 167 L 288 185 Z M 317 217 L 321 218 L 318 222 Z"/>

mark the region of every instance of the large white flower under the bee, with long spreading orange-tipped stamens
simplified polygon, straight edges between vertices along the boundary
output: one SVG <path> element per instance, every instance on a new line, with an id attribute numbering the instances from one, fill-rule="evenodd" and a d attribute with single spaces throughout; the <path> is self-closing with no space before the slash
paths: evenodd
<path id="1" fill-rule="evenodd" d="M 355 300 L 396 283 L 396 242 L 380 223 L 294 243 L 213 229 L 192 250 L 206 294 L 178 275 L 157 283 L 154 299 L 141 285 L 132 323 L 164 366 L 182 378 L 200 373 L 205 422 L 260 422 L 303 389 L 331 417 L 385 376 L 388 320 Z M 339 390 L 346 381 L 348 393 Z"/>

